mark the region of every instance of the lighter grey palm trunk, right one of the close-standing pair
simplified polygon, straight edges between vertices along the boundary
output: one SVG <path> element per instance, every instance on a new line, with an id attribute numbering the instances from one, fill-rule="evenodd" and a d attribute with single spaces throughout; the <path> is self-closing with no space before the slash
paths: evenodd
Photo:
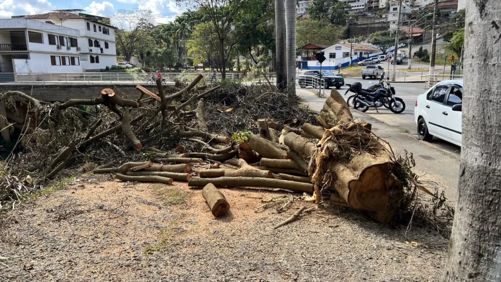
<path id="1" fill-rule="evenodd" d="M 287 25 L 287 93 L 296 95 L 296 0 L 286 0 Z"/>

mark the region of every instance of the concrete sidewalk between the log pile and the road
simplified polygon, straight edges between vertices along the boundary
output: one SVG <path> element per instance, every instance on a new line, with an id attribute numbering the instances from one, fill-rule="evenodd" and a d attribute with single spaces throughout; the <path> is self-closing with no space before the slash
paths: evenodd
<path id="1" fill-rule="evenodd" d="M 300 96 L 309 107 L 320 112 L 324 106 L 326 98 L 320 98 L 315 92 L 309 89 L 296 89 Z M 329 92 L 330 94 L 330 92 Z M 421 176 L 422 181 L 433 181 L 439 186 L 445 188 L 445 196 L 451 202 L 456 199 L 457 182 L 459 180 L 459 156 L 444 152 L 432 144 L 422 142 L 416 137 L 401 133 L 394 126 L 381 122 L 367 114 L 351 109 L 353 117 L 362 118 L 372 124 L 372 131 L 380 137 L 384 137 L 391 145 L 395 154 L 402 154 L 407 150 L 412 153 L 416 161 L 414 172 Z M 433 183 L 426 184 L 427 187 L 434 187 Z"/>

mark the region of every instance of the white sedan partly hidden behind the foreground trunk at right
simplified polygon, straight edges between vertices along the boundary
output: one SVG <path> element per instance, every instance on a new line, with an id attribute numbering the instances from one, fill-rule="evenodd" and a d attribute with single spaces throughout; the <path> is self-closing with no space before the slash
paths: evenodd
<path id="1" fill-rule="evenodd" d="M 463 80 L 441 81 L 416 100 L 414 116 L 419 139 L 433 136 L 461 146 Z"/>

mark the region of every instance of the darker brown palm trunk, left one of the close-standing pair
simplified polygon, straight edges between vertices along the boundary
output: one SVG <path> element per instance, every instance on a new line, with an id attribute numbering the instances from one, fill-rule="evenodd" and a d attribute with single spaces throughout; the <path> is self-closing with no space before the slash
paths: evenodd
<path id="1" fill-rule="evenodd" d="M 285 34 L 285 7 L 284 0 L 275 1 L 275 56 L 277 57 L 277 87 L 284 89 L 287 86 L 287 59 Z"/>

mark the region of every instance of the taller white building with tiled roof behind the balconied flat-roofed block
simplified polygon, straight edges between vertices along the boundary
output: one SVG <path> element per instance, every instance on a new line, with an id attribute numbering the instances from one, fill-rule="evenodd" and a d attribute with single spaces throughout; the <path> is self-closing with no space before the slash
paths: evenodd
<path id="1" fill-rule="evenodd" d="M 85 14 L 81 14 L 85 15 Z M 80 32 L 77 44 L 80 50 L 82 71 L 98 71 L 117 63 L 115 46 L 115 27 L 98 22 L 101 17 L 84 17 L 68 12 L 52 12 L 25 16 L 23 19 L 51 23 Z M 50 43 L 49 43 L 50 44 Z M 57 42 L 61 45 L 61 42 Z M 67 46 L 67 45 L 66 45 Z"/>

